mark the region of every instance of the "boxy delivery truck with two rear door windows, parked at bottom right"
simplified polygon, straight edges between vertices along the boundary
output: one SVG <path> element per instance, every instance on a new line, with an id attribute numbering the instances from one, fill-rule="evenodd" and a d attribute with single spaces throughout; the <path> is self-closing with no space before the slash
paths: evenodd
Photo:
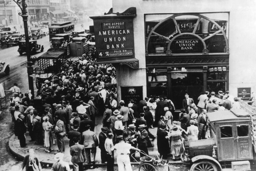
<path id="1" fill-rule="evenodd" d="M 254 139 L 251 135 L 254 129 L 252 116 L 242 109 L 231 109 L 210 112 L 207 117 L 211 138 L 184 141 L 184 161 L 192 163 L 190 171 L 229 169 L 222 168 L 222 164 L 231 164 L 235 170 L 250 170 Z"/>

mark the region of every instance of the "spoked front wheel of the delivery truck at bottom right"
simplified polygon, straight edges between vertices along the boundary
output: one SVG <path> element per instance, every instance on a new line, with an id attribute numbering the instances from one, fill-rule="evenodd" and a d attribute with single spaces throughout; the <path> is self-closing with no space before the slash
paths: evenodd
<path id="1" fill-rule="evenodd" d="M 190 171 L 218 171 L 218 167 L 213 162 L 203 160 L 194 163 Z"/>

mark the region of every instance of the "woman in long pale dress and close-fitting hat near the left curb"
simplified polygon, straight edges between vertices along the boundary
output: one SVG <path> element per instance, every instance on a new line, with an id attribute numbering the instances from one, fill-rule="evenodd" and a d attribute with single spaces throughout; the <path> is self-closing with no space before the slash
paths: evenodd
<path id="1" fill-rule="evenodd" d="M 53 125 L 49 122 L 48 116 L 44 116 L 43 120 L 44 122 L 42 123 L 42 125 L 44 129 L 44 151 L 50 153 L 52 151 L 51 146 L 54 144 L 54 139 L 51 132 Z"/>

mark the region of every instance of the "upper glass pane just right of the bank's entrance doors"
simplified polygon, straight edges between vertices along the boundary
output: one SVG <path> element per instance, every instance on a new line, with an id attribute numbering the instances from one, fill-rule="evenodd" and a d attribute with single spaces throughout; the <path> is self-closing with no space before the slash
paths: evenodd
<path id="1" fill-rule="evenodd" d="M 226 80 L 226 67 L 211 67 L 207 69 L 207 80 Z"/>

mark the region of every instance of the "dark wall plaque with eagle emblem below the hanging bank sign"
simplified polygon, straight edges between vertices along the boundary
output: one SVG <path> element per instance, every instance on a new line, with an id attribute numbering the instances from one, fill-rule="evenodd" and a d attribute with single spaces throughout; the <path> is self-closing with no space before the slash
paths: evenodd
<path id="1" fill-rule="evenodd" d="M 134 100 L 136 104 L 139 104 L 139 101 L 143 100 L 142 86 L 121 86 L 121 99 L 124 100 L 126 105 L 130 100 Z"/>

